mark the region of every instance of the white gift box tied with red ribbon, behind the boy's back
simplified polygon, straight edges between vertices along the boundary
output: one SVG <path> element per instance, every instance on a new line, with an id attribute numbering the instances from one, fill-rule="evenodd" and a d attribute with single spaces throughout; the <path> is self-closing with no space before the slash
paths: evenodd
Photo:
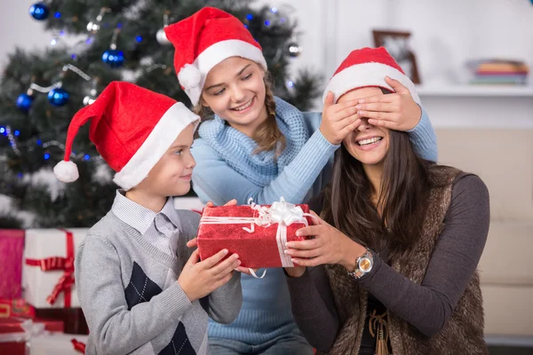
<path id="1" fill-rule="evenodd" d="M 22 265 L 23 296 L 36 308 L 79 307 L 74 257 L 86 228 L 28 229 Z"/>

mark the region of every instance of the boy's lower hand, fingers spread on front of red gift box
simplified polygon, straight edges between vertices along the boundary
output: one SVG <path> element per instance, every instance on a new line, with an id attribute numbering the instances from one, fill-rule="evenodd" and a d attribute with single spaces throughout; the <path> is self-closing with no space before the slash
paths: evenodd
<path id="1" fill-rule="evenodd" d="M 200 261 L 198 249 L 193 251 L 178 279 L 179 286 L 191 303 L 211 294 L 231 280 L 233 271 L 241 264 L 241 261 L 236 254 L 220 261 L 226 255 L 227 249 L 223 249 L 214 256 Z"/>

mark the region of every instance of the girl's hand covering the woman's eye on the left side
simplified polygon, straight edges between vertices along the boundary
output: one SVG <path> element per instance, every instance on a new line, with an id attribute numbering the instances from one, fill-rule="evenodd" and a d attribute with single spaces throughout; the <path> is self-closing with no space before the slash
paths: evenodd
<path id="1" fill-rule="evenodd" d="M 361 124 L 361 116 L 357 113 L 357 100 L 333 103 L 333 93 L 330 91 L 324 100 L 320 131 L 332 145 L 340 142 Z"/>

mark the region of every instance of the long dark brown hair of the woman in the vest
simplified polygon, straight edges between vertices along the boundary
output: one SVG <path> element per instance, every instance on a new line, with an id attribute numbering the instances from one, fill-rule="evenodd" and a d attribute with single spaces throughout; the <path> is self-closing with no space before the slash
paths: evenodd
<path id="1" fill-rule="evenodd" d="M 376 204 L 362 163 L 341 145 L 335 154 L 330 185 L 324 192 L 323 217 L 362 245 L 377 252 L 394 250 L 396 254 L 407 251 L 420 236 L 432 162 L 419 158 L 409 135 L 396 130 L 389 132 L 389 150 L 384 159 Z"/>

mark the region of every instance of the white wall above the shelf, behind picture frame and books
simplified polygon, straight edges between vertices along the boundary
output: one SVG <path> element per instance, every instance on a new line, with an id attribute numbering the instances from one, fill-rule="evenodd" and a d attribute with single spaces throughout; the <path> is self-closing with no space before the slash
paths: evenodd
<path id="1" fill-rule="evenodd" d="M 533 64 L 530 0 L 337 0 L 337 61 L 373 45 L 371 29 L 411 32 L 423 83 L 460 82 L 467 59 L 511 58 Z"/>

